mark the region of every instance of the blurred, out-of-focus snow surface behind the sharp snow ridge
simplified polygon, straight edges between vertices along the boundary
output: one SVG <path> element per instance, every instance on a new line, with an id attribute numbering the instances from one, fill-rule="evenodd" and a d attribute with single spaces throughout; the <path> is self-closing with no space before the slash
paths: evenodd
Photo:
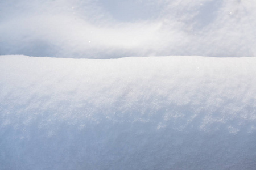
<path id="1" fill-rule="evenodd" d="M 0 16 L 0 55 L 256 56 L 254 0 L 8 0 Z"/>

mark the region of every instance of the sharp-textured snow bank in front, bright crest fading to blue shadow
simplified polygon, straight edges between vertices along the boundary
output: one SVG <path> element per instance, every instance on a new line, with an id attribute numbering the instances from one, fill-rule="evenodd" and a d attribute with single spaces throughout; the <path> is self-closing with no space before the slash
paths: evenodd
<path id="1" fill-rule="evenodd" d="M 0 57 L 1 169 L 254 169 L 256 58 Z"/>

